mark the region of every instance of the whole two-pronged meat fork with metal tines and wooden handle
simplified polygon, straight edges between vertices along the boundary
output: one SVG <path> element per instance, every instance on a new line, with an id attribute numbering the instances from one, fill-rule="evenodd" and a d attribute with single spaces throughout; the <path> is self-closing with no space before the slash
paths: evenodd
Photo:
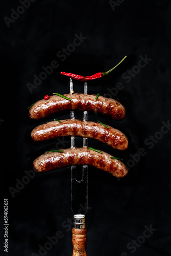
<path id="1" fill-rule="evenodd" d="M 73 94 L 73 82 L 70 78 L 70 94 Z M 84 94 L 88 93 L 87 82 L 84 83 Z M 70 112 L 73 119 L 74 111 Z M 83 112 L 83 121 L 88 121 L 88 112 Z M 88 146 L 88 139 L 83 138 L 83 147 Z M 71 136 L 71 148 L 75 147 L 75 136 Z M 79 167 L 79 166 L 78 166 Z M 80 170 L 79 170 L 80 171 Z M 88 165 L 82 165 L 82 180 L 76 178 L 76 166 L 71 166 L 71 209 L 73 211 L 73 256 L 86 256 L 87 228 L 86 213 L 88 211 Z M 84 211 L 82 214 L 82 210 Z M 84 252 L 84 253 L 83 253 Z M 83 253 L 83 254 L 82 254 Z"/>

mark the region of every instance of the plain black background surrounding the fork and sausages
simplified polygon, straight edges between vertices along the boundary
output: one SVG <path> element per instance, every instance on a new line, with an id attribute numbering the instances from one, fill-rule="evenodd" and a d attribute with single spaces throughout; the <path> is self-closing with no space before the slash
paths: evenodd
<path id="1" fill-rule="evenodd" d="M 46 94 L 69 92 L 69 78 L 60 75 L 60 71 L 82 75 L 108 71 L 126 54 L 125 61 L 111 74 L 88 82 L 89 94 L 108 97 L 110 90 L 116 92 L 117 82 L 123 84 L 123 89 L 111 97 L 125 106 L 125 119 L 118 122 L 89 113 L 89 120 L 100 119 L 124 132 L 129 138 L 129 148 L 119 152 L 93 139 L 88 143 L 122 158 L 132 167 L 122 179 L 89 167 L 91 209 L 87 214 L 87 253 L 88 256 L 171 253 L 171 133 L 167 129 L 165 134 L 157 133 L 162 122 L 170 120 L 171 4 L 160 0 L 118 2 L 120 4 L 115 6 L 114 1 L 112 4 L 105 0 L 36 0 L 9 23 L 9 28 L 4 17 L 11 18 L 11 9 L 17 10 L 21 4 L 19 1 L 1 2 L 1 173 L 4 176 L 3 198 L 8 198 L 9 204 L 8 253 L 5 255 L 72 255 L 71 224 L 68 224 L 72 217 L 70 168 L 36 174 L 28 184 L 20 184 L 17 189 L 17 182 L 27 176 L 25 170 L 32 170 L 32 161 L 37 156 L 52 148 L 70 147 L 69 137 L 61 138 L 63 145 L 57 139 L 33 142 L 32 129 L 54 117 L 70 118 L 70 113 L 66 111 L 32 121 L 27 108 Z M 68 56 L 57 57 L 62 49 L 72 49 L 69 45 L 73 44 L 75 34 L 86 38 L 72 52 L 68 51 Z M 137 70 L 140 55 L 151 60 Z M 50 66 L 53 60 L 58 62 L 58 68 L 30 93 L 27 83 L 33 84 L 34 75 L 39 76 L 44 71 L 42 66 Z M 127 70 L 136 73 L 132 73 L 134 77 L 130 82 L 122 75 Z M 73 82 L 74 91 L 82 93 L 83 82 Z M 82 118 L 82 113 L 75 115 Z M 149 143 L 152 142 L 150 136 L 158 139 Z M 77 138 L 76 144 L 81 146 L 82 139 Z M 133 159 L 130 154 L 137 154 L 140 148 L 146 154 L 136 155 L 137 162 L 128 162 Z M 9 187 L 17 189 L 13 196 Z M 139 236 L 143 236 L 145 226 L 155 231 L 144 241 Z M 39 246 L 45 247 L 48 237 L 55 236 L 57 230 L 62 232 L 63 238 L 47 253 L 40 253 Z M 2 255 L 3 234 L 2 225 Z M 127 247 L 137 239 L 142 243 L 134 247 L 136 250 Z"/>

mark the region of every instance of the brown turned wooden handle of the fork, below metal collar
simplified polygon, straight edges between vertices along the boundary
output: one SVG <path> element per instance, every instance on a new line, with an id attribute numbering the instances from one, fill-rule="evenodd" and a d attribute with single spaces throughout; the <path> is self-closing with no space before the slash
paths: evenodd
<path id="1" fill-rule="evenodd" d="M 87 228 L 72 228 L 73 256 L 87 256 Z"/>

